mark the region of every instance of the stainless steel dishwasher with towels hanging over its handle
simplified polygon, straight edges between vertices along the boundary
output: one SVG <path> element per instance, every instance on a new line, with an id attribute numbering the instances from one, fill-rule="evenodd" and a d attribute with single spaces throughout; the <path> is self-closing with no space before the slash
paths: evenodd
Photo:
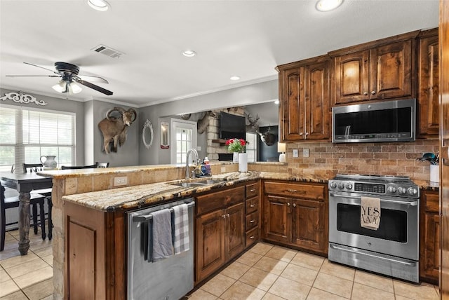
<path id="1" fill-rule="evenodd" d="M 147 236 L 152 212 L 187 203 L 189 250 L 156 262 L 147 261 Z M 128 299 L 177 300 L 194 288 L 194 199 L 127 212 Z"/>

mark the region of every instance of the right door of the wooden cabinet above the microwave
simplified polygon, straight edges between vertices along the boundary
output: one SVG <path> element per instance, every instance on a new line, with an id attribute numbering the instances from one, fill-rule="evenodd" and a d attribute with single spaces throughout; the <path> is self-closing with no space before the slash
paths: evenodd
<path id="1" fill-rule="evenodd" d="M 372 100 L 412 94 L 412 41 L 375 48 L 371 50 L 371 60 Z"/>

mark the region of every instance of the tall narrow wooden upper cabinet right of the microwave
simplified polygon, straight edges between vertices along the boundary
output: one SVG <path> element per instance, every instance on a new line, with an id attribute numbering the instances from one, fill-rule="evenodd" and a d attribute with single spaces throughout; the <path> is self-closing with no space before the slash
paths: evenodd
<path id="1" fill-rule="evenodd" d="M 438 136 L 438 28 L 420 34 L 418 53 L 418 97 L 420 137 Z"/>

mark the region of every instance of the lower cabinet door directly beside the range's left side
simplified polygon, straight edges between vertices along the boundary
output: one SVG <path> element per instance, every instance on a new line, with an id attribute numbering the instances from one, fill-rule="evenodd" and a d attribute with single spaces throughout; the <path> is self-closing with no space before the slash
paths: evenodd
<path id="1" fill-rule="evenodd" d="M 324 251 L 324 203 L 292 200 L 292 242 L 311 250 Z"/>

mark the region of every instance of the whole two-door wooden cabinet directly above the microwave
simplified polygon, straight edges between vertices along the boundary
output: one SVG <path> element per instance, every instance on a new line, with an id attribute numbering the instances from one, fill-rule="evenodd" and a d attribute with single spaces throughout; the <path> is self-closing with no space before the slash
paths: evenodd
<path id="1" fill-rule="evenodd" d="M 335 50 L 333 104 L 415 97 L 418 32 Z"/>

